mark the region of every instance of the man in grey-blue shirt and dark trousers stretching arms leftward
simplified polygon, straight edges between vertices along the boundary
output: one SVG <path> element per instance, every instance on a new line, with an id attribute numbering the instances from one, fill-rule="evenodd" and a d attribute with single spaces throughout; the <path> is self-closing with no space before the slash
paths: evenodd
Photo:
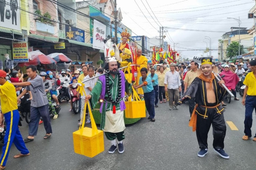
<path id="1" fill-rule="evenodd" d="M 48 109 L 48 99 L 45 93 L 45 86 L 41 76 L 37 75 L 37 68 L 34 65 L 27 66 L 27 82 L 12 83 L 13 85 L 27 86 L 21 94 L 17 97 L 17 100 L 25 95 L 28 91 L 32 93 L 32 101 L 30 106 L 30 122 L 28 124 L 28 136 L 24 139 L 24 142 L 34 141 L 34 137 L 37 135 L 38 122 L 40 117 L 43 118 L 44 127 L 46 129 L 46 135 L 44 139 L 48 139 L 52 134 L 52 126 L 50 120 L 50 114 Z"/>

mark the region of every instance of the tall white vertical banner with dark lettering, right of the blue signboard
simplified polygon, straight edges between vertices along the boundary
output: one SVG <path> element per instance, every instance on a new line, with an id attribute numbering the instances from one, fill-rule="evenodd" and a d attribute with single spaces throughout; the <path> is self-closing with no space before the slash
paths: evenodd
<path id="1" fill-rule="evenodd" d="M 104 50 L 104 39 L 106 39 L 106 25 L 94 19 L 92 48 Z"/>

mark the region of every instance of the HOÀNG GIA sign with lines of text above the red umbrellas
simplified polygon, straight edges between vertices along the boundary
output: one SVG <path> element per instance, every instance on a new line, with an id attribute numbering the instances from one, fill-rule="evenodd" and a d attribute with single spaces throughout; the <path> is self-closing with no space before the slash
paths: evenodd
<path id="1" fill-rule="evenodd" d="M 12 42 L 13 62 L 28 62 L 27 42 Z"/>

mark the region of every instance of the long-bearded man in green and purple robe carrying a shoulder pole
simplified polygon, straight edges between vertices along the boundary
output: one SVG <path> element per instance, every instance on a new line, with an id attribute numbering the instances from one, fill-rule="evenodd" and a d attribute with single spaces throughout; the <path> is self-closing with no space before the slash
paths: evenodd
<path id="1" fill-rule="evenodd" d="M 106 58 L 104 69 L 106 74 L 100 76 L 91 93 L 85 97 L 85 101 L 90 100 L 92 108 L 95 107 L 99 98 L 101 102 L 101 129 L 105 132 L 111 147 L 109 153 L 117 150 L 116 138 L 118 139 L 118 151 L 124 152 L 124 111 L 125 92 L 131 94 L 131 84 L 126 80 L 124 73 L 118 68 L 119 62 L 116 58 Z"/>

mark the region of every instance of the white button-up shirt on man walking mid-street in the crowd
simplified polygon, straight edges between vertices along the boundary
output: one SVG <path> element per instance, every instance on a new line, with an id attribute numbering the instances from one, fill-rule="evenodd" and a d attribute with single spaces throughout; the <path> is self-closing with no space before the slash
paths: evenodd
<path id="1" fill-rule="evenodd" d="M 167 85 L 168 89 L 177 89 L 181 86 L 181 78 L 178 71 L 167 71 L 165 73 L 165 85 Z"/>

